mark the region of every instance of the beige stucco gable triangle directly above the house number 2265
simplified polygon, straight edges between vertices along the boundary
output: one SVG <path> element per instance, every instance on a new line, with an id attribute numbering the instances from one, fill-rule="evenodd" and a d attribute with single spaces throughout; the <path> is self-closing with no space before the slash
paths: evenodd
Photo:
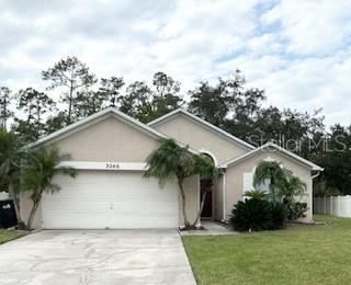
<path id="1" fill-rule="evenodd" d="M 72 160 L 77 161 L 140 162 L 158 142 L 128 124 L 107 117 L 56 141 L 54 146 L 71 153 Z"/>

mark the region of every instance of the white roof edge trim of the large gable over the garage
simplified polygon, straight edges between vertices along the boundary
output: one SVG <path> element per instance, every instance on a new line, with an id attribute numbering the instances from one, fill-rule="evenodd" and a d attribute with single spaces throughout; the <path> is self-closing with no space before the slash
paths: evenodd
<path id="1" fill-rule="evenodd" d="M 140 132 L 145 133 L 148 136 L 151 136 L 155 139 L 169 138 L 168 136 L 157 132 L 156 129 L 147 126 L 146 124 L 143 124 L 141 122 L 139 122 L 139 121 L 124 114 L 123 112 L 118 111 L 117 109 L 111 106 L 111 107 L 104 109 L 95 114 L 92 114 L 86 118 L 82 118 L 71 125 L 68 125 L 61 129 L 58 129 L 58 130 L 36 140 L 34 142 L 30 144 L 27 147 L 33 148 L 36 146 L 57 141 L 59 139 L 63 139 L 67 136 L 75 134 L 76 132 L 79 132 L 79 130 L 90 126 L 91 124 L 98 123 L 109 116 L 116 116 L 122 122 L 128 124 L 132 127 L 139 129 Z M 179 141 L 177 141 L 177 144 L 184 147 L 184 145 Z M 190 147 L 189 147 L 189 151 L 191 151 L 193 153 L 199 153 L 196 150 L 194 150 Z"/>

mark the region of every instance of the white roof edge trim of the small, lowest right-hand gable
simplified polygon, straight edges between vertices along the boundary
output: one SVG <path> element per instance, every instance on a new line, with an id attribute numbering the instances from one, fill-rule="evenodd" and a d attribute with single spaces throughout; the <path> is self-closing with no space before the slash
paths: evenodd
<path id="1" fill-rule="evenodd" d="M 237 157 L 235 159 L 231 159 L 231 160 L 229 160 L 227 162 L 224 162 L 224 163 L 222 163 L 220 167 L 222 168 L 228 168 L 228 167 L 235 166 L 235 164 L 239 163 L 240 161 L 244 161 L 244 160 L 246 160 L 246 159 L 259 153 L 261 150 L 268 149 L 268 148 L 276 149 L 278 151 L 284 153 L 285 156 L 291 157 L 294 160 L 301 162 L 302 164 L 310 168 L 310 170 L 324 171 L 324 169 L 321 167 L 319 167 L 319 166 L 308 161 L 307 159 L 304 159 L 304 158 L 302 158 L 302 157 L 288 151 L 287 149 L 285 149 L 285 148 L 283 148 L 281 146 L 275 145 L 272 141 L 267 142 L 267 144 L 264 144 L 264 145 L 262 145 L 262 146 L 260 146 L 260 147 L 258 147 L 258 148 L 256 148 L 256 149 L 253 149 L 253 150 L 251 150 L 249 152 L 246 152 L 242 156 L 239 156 L 239 157 Z"/>

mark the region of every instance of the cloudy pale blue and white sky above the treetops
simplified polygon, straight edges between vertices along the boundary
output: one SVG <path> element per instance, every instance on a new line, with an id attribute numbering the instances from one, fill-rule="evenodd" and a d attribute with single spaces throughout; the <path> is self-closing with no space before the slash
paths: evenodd
<path id="1" fill-rule="evenodd" d="M 351 0 L 0 0 L 0 86 L 45 89 L 68 55 L 98 77 L 182 82 L 239 68 L 267 103 L 351 123 Z"/>

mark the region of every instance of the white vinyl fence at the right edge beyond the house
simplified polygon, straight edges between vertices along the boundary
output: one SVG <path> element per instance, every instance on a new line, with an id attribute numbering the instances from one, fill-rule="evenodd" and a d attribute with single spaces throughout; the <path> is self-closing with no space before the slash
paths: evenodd
<path id="1" fill-rule="evenodd" d="M 351 195 L 314 198 L 314 214 L 351 218 Z"/>

